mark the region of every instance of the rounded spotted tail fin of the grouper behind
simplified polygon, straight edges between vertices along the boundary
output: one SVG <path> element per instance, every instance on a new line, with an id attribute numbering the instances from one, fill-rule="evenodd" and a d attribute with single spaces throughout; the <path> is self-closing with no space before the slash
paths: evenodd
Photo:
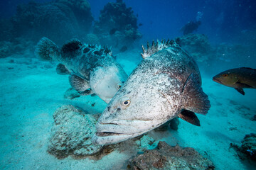
<path id="1" fill-rule="evenodd" d="M 60 52 L 52 40 L 43 37 L 36 45 L 35 55 L 41 60 L 55 61 L 60 56 Z"/>

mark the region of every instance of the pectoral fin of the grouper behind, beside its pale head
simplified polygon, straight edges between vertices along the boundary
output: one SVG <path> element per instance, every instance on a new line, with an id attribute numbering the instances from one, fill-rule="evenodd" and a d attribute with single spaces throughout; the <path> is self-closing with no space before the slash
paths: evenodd
<path id="1" fill-rule="evenodd" d="M 82 79 L 81 77 L 78 77 L 75 74 L 70 75 L 68 77 L 70 81 L 70 85 L 76 90 L 76 91 L 85 91 L 90 88 L 89 82 L 85 79 Z"/>

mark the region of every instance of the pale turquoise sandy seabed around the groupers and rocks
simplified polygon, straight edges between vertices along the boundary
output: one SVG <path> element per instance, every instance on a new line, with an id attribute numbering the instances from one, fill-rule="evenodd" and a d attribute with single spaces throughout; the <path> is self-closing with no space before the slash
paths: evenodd
<path id="1" fill-rule="evenodd" d="M 127 74 L 138 64 L 129 58 L 117 57 Z M 70 84 L 68 76 L 56 74 L 55 66 L 36 58 L 0 59 L 0 169 L 127 169 L 129 152 L 114 151 L 98 161 L 56 159 L 46 152 L 57 108 L 72 104 L 89 113 L 102 113 L 107 106 L 97 96 L 63 98 Z M 195 148 L 216 169 L 255 169 L 255 164 L 239 159 L 230 143 L 240 145 L 246 134 L 256 132 L 256 121 L 250 120 L 256 114 L 256 91 L 245 89 L 242 96 L 201 74 L 212 106 L 206 116 L 198 115 L 201 127 L 180 120 L 178 131 L 163 132 L 159 140 Z"/>

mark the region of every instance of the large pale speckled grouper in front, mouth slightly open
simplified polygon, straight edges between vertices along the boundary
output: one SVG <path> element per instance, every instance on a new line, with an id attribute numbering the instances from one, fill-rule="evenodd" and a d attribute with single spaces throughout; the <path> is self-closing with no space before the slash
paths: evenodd
<path id="1" fill-rule="evenodd" d="M 208 96 L 201 88 L 196 62 L 176 41 L 153 42 L 144 60 L 100 116 L 92 142 L 108 145 L 142 135 L 177 116 L 200 126 L 195 113 L 206 115 Z"/>

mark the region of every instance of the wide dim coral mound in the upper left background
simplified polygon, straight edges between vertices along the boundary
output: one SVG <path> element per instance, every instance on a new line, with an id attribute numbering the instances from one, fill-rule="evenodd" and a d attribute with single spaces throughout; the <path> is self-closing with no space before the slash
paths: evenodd
<path id="1" fill-rule="evenodd" d="M 10 31 L 13 38 L 38 41 L 46 36 L 63 43 L 88 33 L 92 20 L 87 0 L 56 0 L 45 4 L 31 1 L 17 6 Z"/>

